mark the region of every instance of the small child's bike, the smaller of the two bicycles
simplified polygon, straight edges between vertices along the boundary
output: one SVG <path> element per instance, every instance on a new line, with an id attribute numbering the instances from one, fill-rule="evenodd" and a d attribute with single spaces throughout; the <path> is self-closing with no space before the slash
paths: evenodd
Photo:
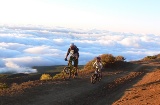
<path id="1" fill-rule="evenodd" d="M 99 72 L 98 69 L 96 69 L 95 72 L 91 75 L 90 79 L 92 84 L 95 84 L 97 81 L 100 82 L 102 79 L 102 73 Z"/>

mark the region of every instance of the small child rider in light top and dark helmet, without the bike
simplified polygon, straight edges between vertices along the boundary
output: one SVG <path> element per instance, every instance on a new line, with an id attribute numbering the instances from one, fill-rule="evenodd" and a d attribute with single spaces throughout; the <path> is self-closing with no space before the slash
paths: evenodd
<path id="1" fill-rule="evenodd" d="M 93 63 L 93 67 L 96 68 L 95 74 L 100 73 L 100 77 L 102 77 L 102 68 L 103 68 L 103 65 L 102 65 L 100 57 L 96 57 L 96 61 Z"/>

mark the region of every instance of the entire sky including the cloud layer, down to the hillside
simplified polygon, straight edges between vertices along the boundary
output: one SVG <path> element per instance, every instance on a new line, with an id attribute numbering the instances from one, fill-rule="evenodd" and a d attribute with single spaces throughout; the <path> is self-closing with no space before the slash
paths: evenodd
<path id="1" fill-rule="evenodd" d="M 79 64 L 101 54 L 127 61 L 160 53 L 159 0 L 0 0 L 0 73 L 65 65 L 70 43 Z"/>

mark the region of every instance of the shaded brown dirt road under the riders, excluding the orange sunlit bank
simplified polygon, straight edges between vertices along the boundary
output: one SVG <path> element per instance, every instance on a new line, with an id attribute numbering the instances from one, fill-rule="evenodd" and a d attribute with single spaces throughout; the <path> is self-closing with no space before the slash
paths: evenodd
<path id="1" fill-rule="evenodd" d="M 42 82 L 23 92 L 1 96 L 0 105 L 118 105 L 128 89 L 159 66 L 159 63 L 134 63 L 125 69 L 106 69 L 102 81 L 95 84 L 90 83 L 90 74 Z"/>

